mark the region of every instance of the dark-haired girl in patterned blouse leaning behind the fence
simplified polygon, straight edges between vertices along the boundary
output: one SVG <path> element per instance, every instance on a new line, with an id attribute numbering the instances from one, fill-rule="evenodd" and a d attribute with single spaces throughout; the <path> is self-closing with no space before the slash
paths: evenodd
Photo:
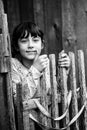
<path id="1" fill-rule="evenodd" d="M 40 76 L 47 67 L 48 57 L 41 55 L 44 48 L 43 32 L 35 24 L 24 22 L 13 31 L 12 36 L 12 82 L 16 100 L 16 84 L 23 86 L 23 99 L 29 100 L 38 93 Z M 69 56 L 62 51 L 59 56 L 61 67 L 70 66 Z"/>

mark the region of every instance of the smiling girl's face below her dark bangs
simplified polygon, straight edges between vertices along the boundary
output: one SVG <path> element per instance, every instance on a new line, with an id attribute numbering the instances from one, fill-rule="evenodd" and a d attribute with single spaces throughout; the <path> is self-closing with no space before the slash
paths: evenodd
<path id="1" fill-rule="evenodd" d="M 39 36 L 29 34 L 28 38 L 18 40 L 19 52 L 23 59 L 36 60 L 41 53 L 43 43 Z"/>

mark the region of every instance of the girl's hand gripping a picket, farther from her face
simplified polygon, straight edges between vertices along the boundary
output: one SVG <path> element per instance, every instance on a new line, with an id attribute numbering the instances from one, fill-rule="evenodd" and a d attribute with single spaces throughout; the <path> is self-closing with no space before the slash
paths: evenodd
<path id="1" fill-rule="evenodd" d="M 64 50 L 59 53 L 58 65 L 67 69 L 70 67 L 70 58 Z"/>

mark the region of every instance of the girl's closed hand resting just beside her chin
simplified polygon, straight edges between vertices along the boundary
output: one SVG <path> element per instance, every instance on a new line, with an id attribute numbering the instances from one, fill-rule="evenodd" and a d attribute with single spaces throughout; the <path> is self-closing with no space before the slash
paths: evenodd
<path id="1" fill-rule="evenodd" d="M 42 72 L 48 64 L 49 60 L 46 54 L 40 55 L 37 60 L 34 61 L 33 66 L 40 72 Z"/>

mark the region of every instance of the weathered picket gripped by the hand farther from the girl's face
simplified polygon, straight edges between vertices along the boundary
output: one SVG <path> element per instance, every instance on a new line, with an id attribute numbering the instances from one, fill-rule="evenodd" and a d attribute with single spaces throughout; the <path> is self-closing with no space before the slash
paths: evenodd
<path id="1" fill-rule="evenodd" d="M 62 113 L 65 112 L 67 107 L 67 73 L 65 68 L 58 68 L 58 87 L 61 89 L 61 104 L 62 104 Z M 69 113 L 67 113 L 66 117 L 63 119 L 62 124 L 63 127 L 69 122 Z M 70 130 L 70 128 L 67 128 Z"/>

